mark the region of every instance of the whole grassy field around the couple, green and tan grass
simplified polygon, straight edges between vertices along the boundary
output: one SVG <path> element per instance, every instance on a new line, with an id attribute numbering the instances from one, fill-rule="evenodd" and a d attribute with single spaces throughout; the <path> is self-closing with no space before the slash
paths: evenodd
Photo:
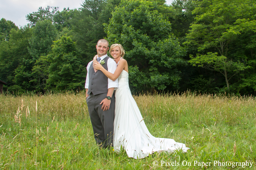
<path id="1" fill-rule="evenodd" d="M 144 159 L 96 146 L 83 92 L 0 95 L 2 169 L 256 169 L 256 99 L 212 95 L 134 97 L 155 137 L 189 152 Z M 205 164 L 205 165 L 204 165 Z"/>

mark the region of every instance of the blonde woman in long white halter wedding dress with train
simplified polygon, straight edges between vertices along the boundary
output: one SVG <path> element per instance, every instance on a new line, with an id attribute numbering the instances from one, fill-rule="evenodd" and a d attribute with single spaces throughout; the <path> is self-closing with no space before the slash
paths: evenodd
<path id="1" fill-rule="evenodd" d="M 125 54 L 120 44 L 110 47 L 110 54 L 117 63 L 114 74 L 108 72 L 96 61 L 94 57 L 93 67 L 102 71 L 108 78 L 115 81 L 118 78 L 118 89 L 115 91 L 115 120 L 114 140 L 115 151 L 120 152 L 123 147 L 128 157 L 141 159 L 153 152 L 174 152 L 182 149 L 186 152 L 189 148 L 183 143 L 175 142 L 173 139 L 156 138 L 148 131 L 141 116 L 140 110 L 131 95 L 128 84 L 128 64 L 122 57 Z"/>

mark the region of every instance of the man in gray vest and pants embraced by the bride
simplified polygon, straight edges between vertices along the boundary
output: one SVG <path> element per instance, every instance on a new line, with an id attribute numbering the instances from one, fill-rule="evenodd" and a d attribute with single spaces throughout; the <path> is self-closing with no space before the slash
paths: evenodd
<path id="1" fill-rule="evenodd" d="M 102 66 L 113 73 L 116 70 L 116 62 L 107 56 L 109 42 L 100 39 L 96 45 L 98 61 Z M 115 118 L 114 90 L 118 88 L 118 82 L 106 77 L 102 71 L 94 72 L 93 61 L 87 65 L 85 82 L 86 102 L 93 126 L 96 143 L 108 148 L 113 146 L 113 131 Z"/>

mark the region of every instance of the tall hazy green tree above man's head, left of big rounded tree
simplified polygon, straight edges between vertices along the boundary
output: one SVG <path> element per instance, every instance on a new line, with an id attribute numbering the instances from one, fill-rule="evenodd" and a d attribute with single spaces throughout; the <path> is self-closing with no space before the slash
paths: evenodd
<path id="1" fill-rule="evenodd" d="M 72 39 L 81 50 L 83 62 L 88 63 L 96 54 L 95 46 L 99 39 L 106 37 L 103 23 L 109 21 L 111 11 L 105 10 L 105 0 L 85 0 L 80 11 L 76 11 L 72 21 Z M 104 11 L 104 13 L 103 13 Z"/>

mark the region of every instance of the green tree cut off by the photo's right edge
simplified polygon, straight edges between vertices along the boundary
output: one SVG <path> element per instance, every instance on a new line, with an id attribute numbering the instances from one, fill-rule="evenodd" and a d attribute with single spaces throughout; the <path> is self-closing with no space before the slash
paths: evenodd
<path id="1" fill-rule="evenodd" d="M 250 8 L 250 10 L 246 9 L 246 11 L 255 11 L 252 9 L 256 9 L 256 6 L 250 6 Z M 236 20 L 234 26 L 231 26 L 230 29 L 224 33 L 224 35 L 236 39 L 236 55 L 243 56 L 247 61 L 247 65 L 250 66 L 249 69 L 241 74 L 242 79 L 239 81 L 237 91 L 245 94 L 256 95 L 256 21 L 254 18 L 254 13 L 251 13 L 248 16 L 251 17 Z"/>

